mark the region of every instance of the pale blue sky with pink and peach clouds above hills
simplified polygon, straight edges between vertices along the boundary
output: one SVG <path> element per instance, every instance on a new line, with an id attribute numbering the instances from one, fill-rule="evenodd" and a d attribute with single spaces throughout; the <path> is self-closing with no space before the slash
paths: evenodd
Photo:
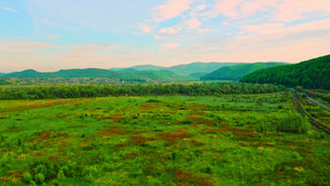
<path id="1" fill-rule="evenodd" d="M 330 0 L 0 0 L 0 72 L 330 53 Z"/>

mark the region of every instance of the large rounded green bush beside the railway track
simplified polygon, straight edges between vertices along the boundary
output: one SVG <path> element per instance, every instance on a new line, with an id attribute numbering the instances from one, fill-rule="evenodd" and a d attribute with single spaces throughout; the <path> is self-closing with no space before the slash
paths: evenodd
<path id="1" fill-rule="evenodd" d="M 292 133 L 307 133 L 310 129 L 309 121 L 298 113 L 289 116 L 279 123 L 277 131 Z"/>

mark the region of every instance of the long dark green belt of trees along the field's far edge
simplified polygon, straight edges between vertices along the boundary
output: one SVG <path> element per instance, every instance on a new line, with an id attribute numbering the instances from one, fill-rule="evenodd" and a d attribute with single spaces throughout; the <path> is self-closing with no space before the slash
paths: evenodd
<path id="1" fill-rule="evenodd" d="M 266 94 L 283 90 L 283 87 L 258 84 L 150 84 L 123 86 L 62 86 L 62 87 L 20 87 L 0 89 L 0 100 L 94 98 L 107 96 L 218 96 L 230 94 Z"/>

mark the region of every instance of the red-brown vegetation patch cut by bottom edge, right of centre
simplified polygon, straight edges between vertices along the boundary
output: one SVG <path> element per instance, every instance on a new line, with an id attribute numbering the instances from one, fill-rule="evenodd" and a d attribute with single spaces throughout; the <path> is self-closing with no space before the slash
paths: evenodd
<path id="1" fill-rule="evenodd" d="M 212 186 L 212 179 L 210 177 L 196 175 L 191 172 L 186 172 L 183 169 L 174 171 L 176 184 L 182 186 L 188 185 L 204 185 Z"/>

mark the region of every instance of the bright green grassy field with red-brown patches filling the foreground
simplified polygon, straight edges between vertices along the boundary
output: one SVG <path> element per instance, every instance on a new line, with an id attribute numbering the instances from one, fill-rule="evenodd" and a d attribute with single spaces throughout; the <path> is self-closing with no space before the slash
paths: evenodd
<path id="1" fill-rule="evenodd" d="M 0 101 L 0 185 L 330 185 L 295 116 L 288 92 Z"/>

